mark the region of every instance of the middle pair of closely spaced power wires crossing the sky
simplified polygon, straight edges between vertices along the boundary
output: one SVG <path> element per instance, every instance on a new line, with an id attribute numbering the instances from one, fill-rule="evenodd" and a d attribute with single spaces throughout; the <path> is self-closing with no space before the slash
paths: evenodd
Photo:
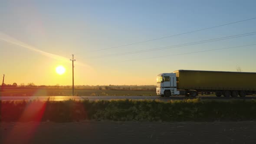
<path id="1" fill-rule="evenodd" d="M 201 43 L 209 43 L 209 42 L 215 42 L 215 41 L 220 41 L 220 40 L 225 40 L 225 39 L 233 39 L 233 38 L 237 38 L 237 37 L 250 36 L 250 35 L 255 35 L 255 34 L 256 34 L 256 32 L 243 33 L 243 34 L 239 34 L 239 35 L 225 36 L 225 37 L 220 37 L 220 38 L 216 38 L 216 39 L 207 39 L 207 40 L 201 40 L 201 41 L 197 41 L 197 42 L 184 43 L 184 44 L 173 45 L 173 46 L 164 46 L 164 47 L 154 48 L 154 49 L 138 50 L 138 51 L 133 51 L 133 52 L 122 52 L 122 53 L 116 53 L 116 54 L 104 55 L 104 56 L 93 56 L 93 57 L 88 57 L 88 59 L 105 58 L 105 57 L 111 57 L 111 56 L 122 56 L 122 55 L 129 55 L 129 54 L 135 54 L 135 53 L 141 53 L 141 52 L 150 52 L 150 51 L 156 51 L 156 50 L 171 49 L 171 48 L 177 48 L 177 47 L 182 47 L 182 46 L 190 46 L 190 45 L 196 45 L 196 44 L 201 44 Z"/>

